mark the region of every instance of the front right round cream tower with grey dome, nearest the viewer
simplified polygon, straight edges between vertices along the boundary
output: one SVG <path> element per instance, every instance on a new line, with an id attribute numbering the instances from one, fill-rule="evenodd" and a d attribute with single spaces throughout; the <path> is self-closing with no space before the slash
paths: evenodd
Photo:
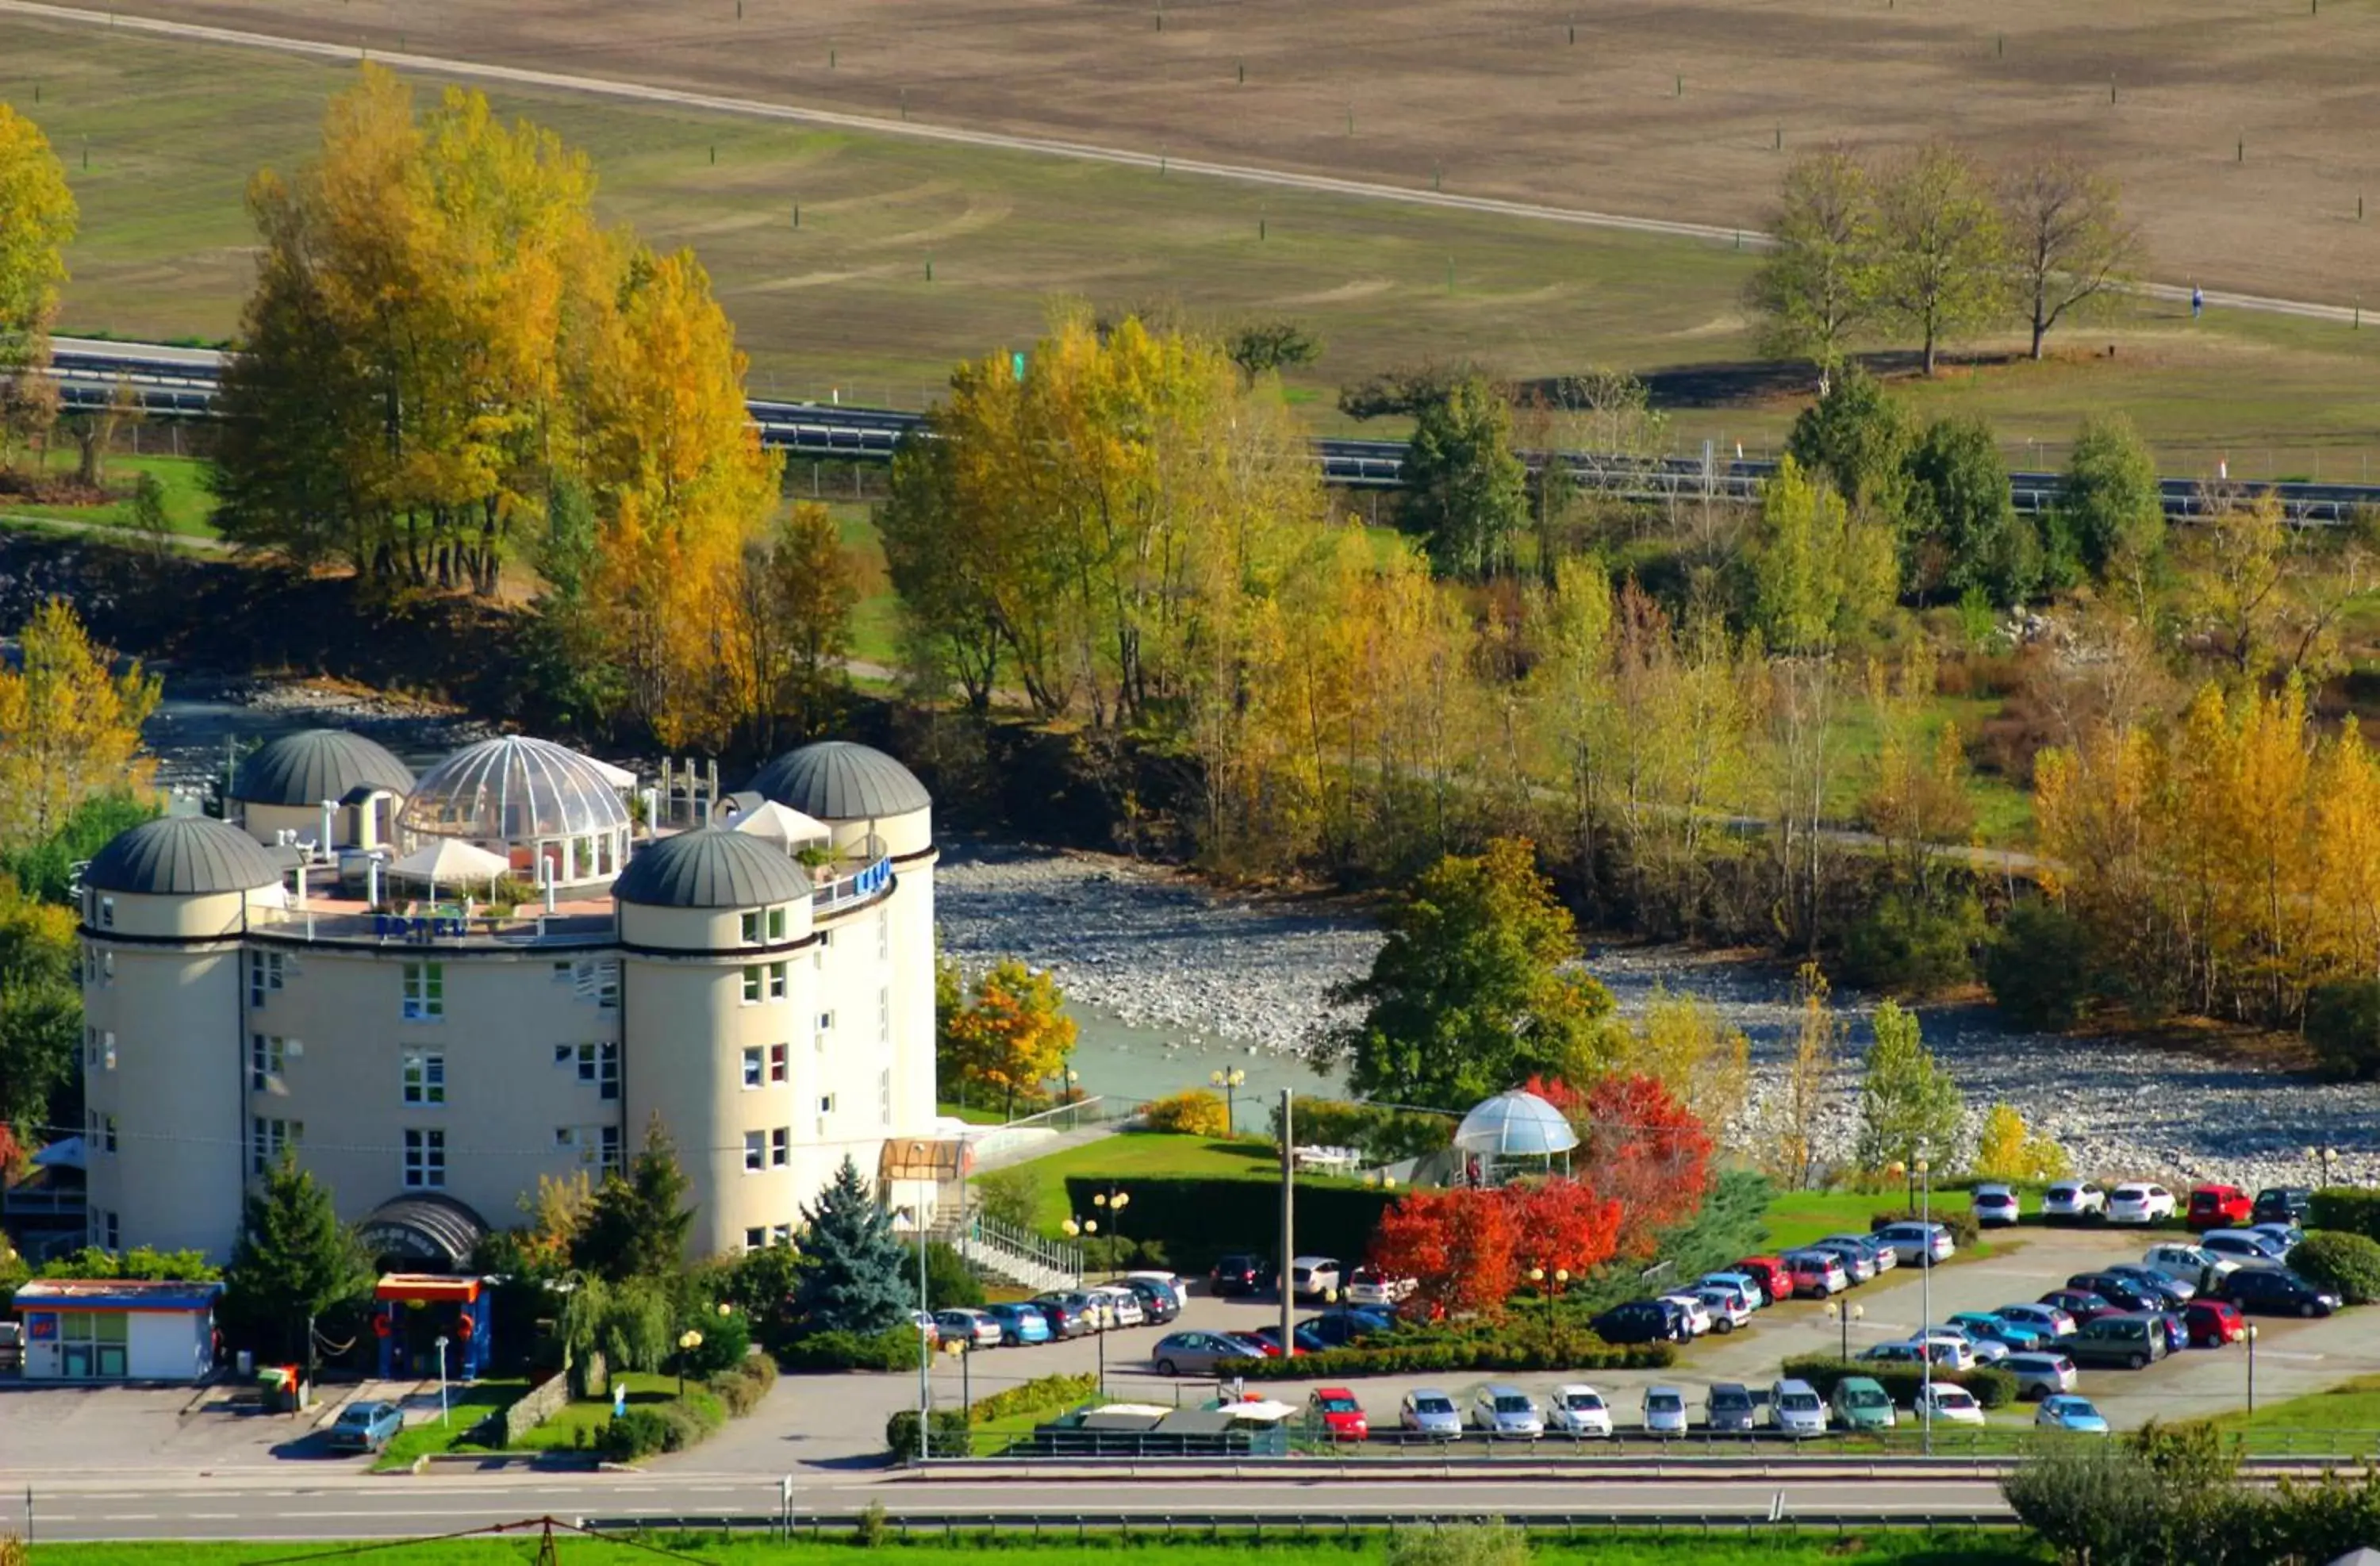
<path id="1" fill-rule="evenodd" d="M 783 1242 L 840 1150 L 812 1050 L 809 876 L 781 845 L 707 826 L 662 838 L 612 883 L 621 940 L 628 1157 L 659 1114 L 693 1178 L 688 1252 Z"/>

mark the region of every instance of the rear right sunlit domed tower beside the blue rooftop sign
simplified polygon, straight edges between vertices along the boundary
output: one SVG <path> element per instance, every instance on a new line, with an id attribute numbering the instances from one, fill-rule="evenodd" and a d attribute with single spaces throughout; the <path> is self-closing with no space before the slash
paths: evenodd
<path id="1" fill-rule="evenodd" d="M 885 752 L 850 740 L 781 754 L 752 793 L 833 833 L 833 864 L 812 871 L 821 985 L 812 1047 L 835 1066 L 835 1085 L 821 1092 L 821 1142 L 866 1154 L 873 1147 L 859 1138 L 931 1138 L 933 795 Z M 859 1169 L 878 1173 L 866 1157 Z M 933 1180 L 885 1176 L 878 1195 L 923 1214 L 935 1192 Z"/>

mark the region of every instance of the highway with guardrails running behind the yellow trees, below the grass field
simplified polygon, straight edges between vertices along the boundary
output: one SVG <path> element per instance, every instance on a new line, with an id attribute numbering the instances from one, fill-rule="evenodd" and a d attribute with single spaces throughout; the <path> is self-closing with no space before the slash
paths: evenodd
<path id="1" fill-rule="evenodd" d="M 57 338 L 52 374 L 67 402 L 90 407 L 107 402 L 117 386 L 131 386 L 143 407 L 162 416 L 205 419 L 214 412 L 214 388 L 224 355 L 207 347 L 167 347 L 155 343 L 102 343 L 93 338 Z M 923 424 L 923 414 L 873 407 L 835 407 L 819 402 L 747 402 L 762 440 L 819 462 L 890 462 L 892 447 Z M 1314 455 L 1323 481 L 1342 488 L 1399 488 L 1404 483 L 1402 440 L 1321 438 Z M 1537 466 L 1545 452 L 1523 452 Z M 1775 471 L 1773 462 L 1733 462 L 1716 452 L 1702 457 L 1614 457 L 1602 452 L 1559 452 L 1580 488 L 1683 505 L 1697 500 L 1756 500 L 1759 486 Z M 2059 474 L 2009 474 L 2018 512 L 2044 512 L 2056 505 Z M 2366 483 L 2275 483 L 2268 486 L 2290 519 L 2301 524 L 2340 524 L 2356 507 L 2380 505 L 2380 486 Z M 2197 478 L 2161 481 L 2166 516 L 2190 519 L 2202 512 Z"/>

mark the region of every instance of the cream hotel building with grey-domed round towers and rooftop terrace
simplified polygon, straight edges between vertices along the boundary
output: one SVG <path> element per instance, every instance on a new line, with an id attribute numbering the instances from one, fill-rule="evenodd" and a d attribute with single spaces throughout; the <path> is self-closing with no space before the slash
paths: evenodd
<path id="1" fill-rule="evenodd" d="M 652 1119 L 693 1254 L 788 1242 L 845 1157 L 928 1216 L 935 1183 L 885 1145 L 935 1135 L 931 797 L 862 745 L 762 776 L 814 823 L 652 831 L 633 773 L 562 745 L 414 783 L 312 731 L 250 757 L 233 821 L 121 833 L 81 890 L 93 1242 L 224 1259 L 288 1152 L 436 1271 Z M 440 840 L 478 873 L 390 873 Z"/>

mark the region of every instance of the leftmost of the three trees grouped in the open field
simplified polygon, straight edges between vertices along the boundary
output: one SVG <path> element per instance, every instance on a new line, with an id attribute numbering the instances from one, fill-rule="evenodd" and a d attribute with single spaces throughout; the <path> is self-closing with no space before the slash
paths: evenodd
<path id="1" fill-rule="evenodd" d="M 1844 148 L 1797 157 L 1768 217 L 1771 250 L 1747 297 L 1761 352 L 1818 367 L 1818 395 L 1875 317 L 1883 214 L 1875 183 Z"/>

